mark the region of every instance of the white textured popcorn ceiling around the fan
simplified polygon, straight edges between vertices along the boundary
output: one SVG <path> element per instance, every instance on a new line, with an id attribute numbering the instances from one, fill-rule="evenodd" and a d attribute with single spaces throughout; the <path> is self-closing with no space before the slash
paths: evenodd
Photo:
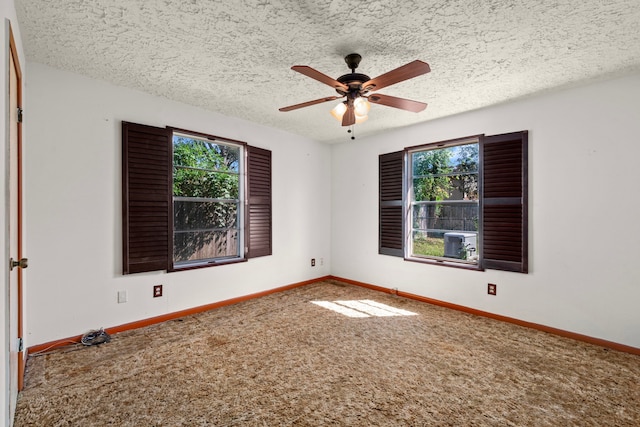
<path id="1" fill-rule="evenodd" d="M 15 0 L 28 61 L 306 137 L 347 141 L 335 95 L 357 52 L 378 76 L 414 59 L 431 73 L 380 90 L 428 103 L 373 105 L 358 136 L 640 70 L 639 0 Z M 337 103 L 336 101 L 335 103 Z"/>

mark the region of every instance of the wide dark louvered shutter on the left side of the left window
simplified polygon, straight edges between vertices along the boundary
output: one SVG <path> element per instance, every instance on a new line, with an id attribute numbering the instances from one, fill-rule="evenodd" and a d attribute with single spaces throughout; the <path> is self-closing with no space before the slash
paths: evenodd
<path id="1" fill-rule="evenodd" d="M 122 269 L 170 266 L 171 132 L 122 122 Z"/>

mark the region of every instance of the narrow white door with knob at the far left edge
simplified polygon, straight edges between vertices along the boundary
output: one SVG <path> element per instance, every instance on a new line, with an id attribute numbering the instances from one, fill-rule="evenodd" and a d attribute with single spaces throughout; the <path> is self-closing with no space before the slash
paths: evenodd
<path id="1" fill-rule="evenodd" d="M 22 141 L 18 107 L 21 105 L 20 65 L 11 37 L 9 52 L 9 419 L 13 420 L 16 398 L 22 387 Z"/>

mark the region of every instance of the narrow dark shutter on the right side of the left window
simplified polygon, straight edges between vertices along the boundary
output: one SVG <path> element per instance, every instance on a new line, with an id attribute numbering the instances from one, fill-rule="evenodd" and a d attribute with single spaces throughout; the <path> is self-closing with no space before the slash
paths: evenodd
<path id="1" fill-rule="evenodd" d="M 247 258 L 271 255 L 271 151 L 247 146 Z"/>

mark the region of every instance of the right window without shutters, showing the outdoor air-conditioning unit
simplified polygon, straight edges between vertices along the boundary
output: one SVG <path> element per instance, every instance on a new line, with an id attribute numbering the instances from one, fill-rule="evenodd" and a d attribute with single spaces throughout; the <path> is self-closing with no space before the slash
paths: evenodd
<path id="1" fill-rule="evenodd" d="M 478 262 L 478 139 L 408 151 L 407 256 Z"/>

